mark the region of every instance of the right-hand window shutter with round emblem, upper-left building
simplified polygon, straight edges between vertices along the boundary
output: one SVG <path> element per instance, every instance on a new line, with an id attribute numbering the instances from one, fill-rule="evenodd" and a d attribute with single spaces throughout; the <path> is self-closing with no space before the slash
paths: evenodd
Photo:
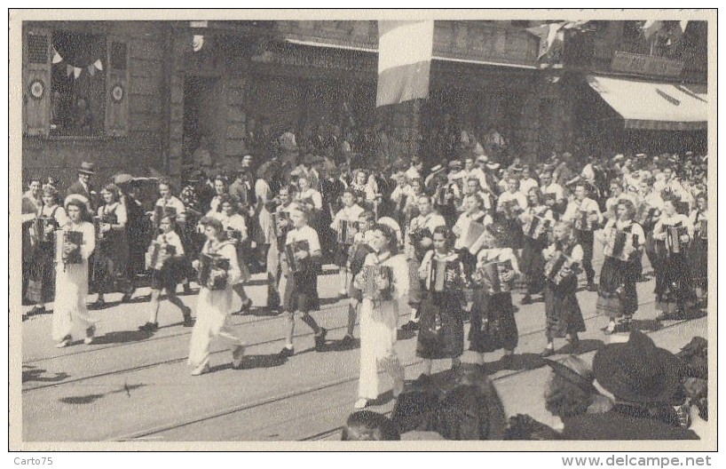
<path id="1" fill-rule="evenodd" d="M 107 52 L 106 134 L 125 137 L 129 129 L 129 46 L 109 36 Z"/>

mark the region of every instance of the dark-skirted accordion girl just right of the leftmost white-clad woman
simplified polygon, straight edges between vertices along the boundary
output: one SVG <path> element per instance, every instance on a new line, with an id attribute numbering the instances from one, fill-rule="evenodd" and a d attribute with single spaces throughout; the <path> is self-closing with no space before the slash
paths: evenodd
<path id="1" fill-rule="evenodd" d="M 99 293 L 94 309 L 106 306 L 105 294 L 115 290 L 116 285 L 132 292 L 127 277 L 126 264 L 129 260 L 129 240 L 126 236 L 126 206 L 119 200 L 121 191 L 115 184 L 109 184 L 101 191 L 104 203 L 99 207 L 98 249 L 93 262 L 93 279 Z M 124 297 L 126 298 L 126 297 Z M 127 298 L 128 299 L 128 298 Z"/>

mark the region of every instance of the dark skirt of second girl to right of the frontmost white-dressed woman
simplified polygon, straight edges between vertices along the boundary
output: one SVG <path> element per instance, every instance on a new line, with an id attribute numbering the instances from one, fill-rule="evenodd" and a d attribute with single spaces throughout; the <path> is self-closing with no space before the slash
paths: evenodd
<path id="1" fill-rule="evenodd" d="M 517 347 L 519 331 L 511 293 L 490 296 L 482 289 L 474 290 L 469 342 L 469 349 L 478 353 Z"/>

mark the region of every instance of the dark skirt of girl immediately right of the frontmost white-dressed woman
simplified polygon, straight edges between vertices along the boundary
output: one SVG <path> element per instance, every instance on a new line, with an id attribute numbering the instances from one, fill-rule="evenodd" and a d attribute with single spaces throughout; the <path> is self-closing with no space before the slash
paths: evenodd
<path id="1" fill-rule="evenodd" d="M 464 323 L 460 293 L 429 293 L 421 303 L 416 356 L 436 360 L 464 352 Z"/>

